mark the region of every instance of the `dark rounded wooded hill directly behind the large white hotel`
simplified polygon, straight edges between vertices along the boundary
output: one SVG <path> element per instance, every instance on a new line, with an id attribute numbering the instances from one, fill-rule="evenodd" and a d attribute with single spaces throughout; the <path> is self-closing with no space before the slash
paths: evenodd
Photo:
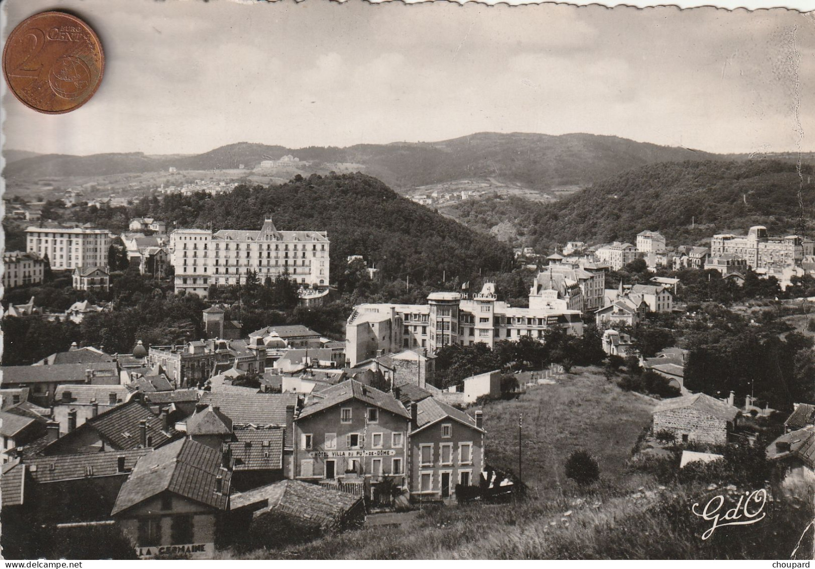
<path id="1" fill-rule="evenodd" d="M 213 230 L 259 230 L 269 217 L 279 230 L 328 231 L 332 281 L 345 270 L 350 255 L 375 263 L 385 278 L 409 275 L 416 284 L 441 282 L 443 271 L 448 279 L 464 281 L 479 269 L 489 272 L 512 266 L 512 252 L 503 243 L 414 204 L 376 178 L 359 173 L 298 176 L 282 186 L 236 186 L 216 196 L 145 198 L 129 210 L 131 217 L 156 217 L 178 228 L 211 223 Z M 117 215 L 114 210 L 95 214 Z M 97 217 L 97 221 L 110 225 L 111 220 Z"/>

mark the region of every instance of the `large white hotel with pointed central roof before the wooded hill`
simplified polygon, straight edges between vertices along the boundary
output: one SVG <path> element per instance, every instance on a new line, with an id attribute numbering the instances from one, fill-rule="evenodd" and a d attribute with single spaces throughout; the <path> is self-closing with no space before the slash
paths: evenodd
<path id="1" fill-rule="evenodd" d="M 287 269 L 297 284 L 328 287 L 328 245 L 325 231 L 279 231 L 271 219 L 259 231 L 175 230 L 175 291 L 207 298 L 210 286 L 245 282 L 249 270 L 263 282 Z"/>

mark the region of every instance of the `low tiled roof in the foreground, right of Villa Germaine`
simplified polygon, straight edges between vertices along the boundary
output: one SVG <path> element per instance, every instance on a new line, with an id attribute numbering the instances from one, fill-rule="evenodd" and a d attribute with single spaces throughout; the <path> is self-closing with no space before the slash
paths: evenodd
<path id="1" fill-rule="evenodd" d="M 300 523 L 331 528 L 342 523 L 346 514 L 363 498 L 350 493 L 308 484 L 301 480 L 280 480 L 232 497 L 232 509 L 261 505 L 258 517 L 267 512 L 285 514 Z"/>

